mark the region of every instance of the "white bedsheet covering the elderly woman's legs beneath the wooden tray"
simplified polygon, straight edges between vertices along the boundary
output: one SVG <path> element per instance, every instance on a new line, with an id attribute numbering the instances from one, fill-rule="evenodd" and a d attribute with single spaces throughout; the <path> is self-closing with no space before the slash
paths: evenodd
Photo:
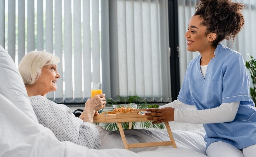
<path id="1" fill-rule="evenodd" d="M 119 131 L 107 131 L 97 126 L 101 136 L 101 147 L 99 149 L 124 148 Z M 205 130 L 198 129 L 196 131 L 172 131 L 175 143 L 178 149 L 194 150 L 201 154 L 205 154 L 204 141 Z M 144 143 L 144 142 L 160 142 L 170 141 L 167 130 L 164 129 L 132 129 L 124 130 L 127 143 Z M 133 152 L 157 150 L 157 149 L 173 149 L 172 146 L 164 147 L 148 147 L 148 148 L 132 148 Z"/>

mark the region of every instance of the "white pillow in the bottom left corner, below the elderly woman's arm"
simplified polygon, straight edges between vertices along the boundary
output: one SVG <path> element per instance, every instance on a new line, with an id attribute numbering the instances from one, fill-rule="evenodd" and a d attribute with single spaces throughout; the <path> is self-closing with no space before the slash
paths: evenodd
<path id="1" fill-rule="evenodd" d="M 50 129 L 33 121 L 2 94 L 0 102 L 0 156 L 65 157 L 66 144 Z"/>

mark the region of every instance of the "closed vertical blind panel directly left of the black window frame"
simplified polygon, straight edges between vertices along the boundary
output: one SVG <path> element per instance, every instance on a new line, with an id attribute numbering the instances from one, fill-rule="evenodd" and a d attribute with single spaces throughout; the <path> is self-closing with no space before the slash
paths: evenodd
<path id="1" fill-rule="evenodd" d="M 111 95 L 169 102 L 167 1 L 109 1 Z"/>

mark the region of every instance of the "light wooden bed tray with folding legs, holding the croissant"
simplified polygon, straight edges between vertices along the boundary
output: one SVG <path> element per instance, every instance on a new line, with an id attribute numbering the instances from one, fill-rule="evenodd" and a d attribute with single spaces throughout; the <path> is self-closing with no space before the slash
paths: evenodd
<path id="1" fill-rule="evenodd" d="M 170 137 L 170 141 L 162 141 L 162 142 L 149 142 L 149 143 L 131 143 L 128 144 L 124 135 L 124 130 L 122 127 L 122 122 L 129 122 L 129 129 L 132 128 L 132 122 L 133 121 L 152 121 L 148 120 L 148 117 L 155 117 L 155 116 L 150 116 L 150 115 L 144 115 L 141 114 L 139 111 L 146 111 L 146 109 L 137 109 L 132 112 L 128 113 L 117 113 L 117 114 L 109 114 L 106 115 L 109 111 L 105 111 L 100 113 L 100 115 L 94 116 L 93 117 L 93 122 L 94 123 L 117 123 L 120 135 L 124 144 L 125 149 L 130 149 L 130 148 L 142 148 L 142 147 L 153 147 L 153 146 L 168 146 L 172 145 L 173 148 L 177 148 L 176 143 L 173 138 L 173 134 L 171 132 L 171 128 L 168 122 L 164 122 L 167 132 Z"/>

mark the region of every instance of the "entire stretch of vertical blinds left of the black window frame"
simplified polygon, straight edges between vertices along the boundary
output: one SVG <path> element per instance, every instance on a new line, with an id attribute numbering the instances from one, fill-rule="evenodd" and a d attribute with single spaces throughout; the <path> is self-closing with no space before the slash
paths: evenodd
<path id="1" fill-rule="evenodd" d="M 109 99 L 170 102 L 167 0 L 0 0 L 0 44 L 16 66 L 31 51 L 60 58 L 57 103 L 82 103 L 91 82 Z M 116 100 L 118 101 L 118 100 Z"/>

